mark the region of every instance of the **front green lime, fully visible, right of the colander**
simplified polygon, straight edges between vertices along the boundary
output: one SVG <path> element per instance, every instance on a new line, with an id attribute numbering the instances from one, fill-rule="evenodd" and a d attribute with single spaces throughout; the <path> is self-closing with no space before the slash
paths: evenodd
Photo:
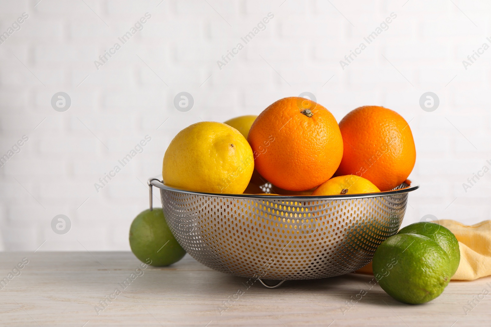
<path id="1" fill-rule="evenodd" d="M 447 253 L 434 240 L 418 234 L 396 234 L 383 241 L 372 266 L 380 287 L 409 304 L 435 299 L 451 277 Z"/>

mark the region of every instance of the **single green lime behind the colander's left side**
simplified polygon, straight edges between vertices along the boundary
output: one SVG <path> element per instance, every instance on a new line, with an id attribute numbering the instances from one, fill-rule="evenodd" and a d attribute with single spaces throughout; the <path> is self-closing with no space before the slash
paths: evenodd
<path id="1" fill-rule="evenodd" d="M 167 226 L 162 208 L 136 216 L 130 227 L 130 247 L 138 259 L 155 267 L 173 264 L 186 254 Z"/>

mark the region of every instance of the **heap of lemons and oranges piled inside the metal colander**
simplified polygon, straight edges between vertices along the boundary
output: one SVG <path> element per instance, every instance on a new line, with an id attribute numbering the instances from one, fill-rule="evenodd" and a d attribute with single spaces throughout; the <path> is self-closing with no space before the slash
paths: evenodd
<path id="1" fill-rule="evenodd" d="M 184 128 L 165 151 L 162 176 L 206 193 L 359 194 L 397 187 L 415 160 L 411 129 L 395 111 L 363 106 L 338 124 L 321 104 L 289 97 L 257 117 Z"/>

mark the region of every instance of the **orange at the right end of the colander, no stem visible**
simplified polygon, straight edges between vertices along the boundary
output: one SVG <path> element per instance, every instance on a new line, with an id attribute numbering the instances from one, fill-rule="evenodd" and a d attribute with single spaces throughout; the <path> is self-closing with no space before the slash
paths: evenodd
<path id="1" fill-rule="evenodd" d="M 363 106 L 339 122 L 344 153 L 336 175 L 356 175 L 388 191 L 408 178 L 416 162 L 411 128 L 397 112 Z"/>

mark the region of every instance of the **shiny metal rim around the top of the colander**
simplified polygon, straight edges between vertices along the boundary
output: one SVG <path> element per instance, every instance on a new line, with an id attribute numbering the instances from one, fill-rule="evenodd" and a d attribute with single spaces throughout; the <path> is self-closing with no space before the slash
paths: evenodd
<path id="1" fill-rule="evenodd" d="M 206 192 L 195 192 L 195 191 L 186 191 L 178 188 L 173 188 L 164 184 L 164 181 L 161 181 L 157 178 L 149 178 L 148 185 L 155 186 L 162 190 L 172 191 L 182 194 L 191 194 L 191 195 L 199 195 L 199 196 L 208 196 L 208 197 L 216 197 L 216 198 L 242 198 L 242 199 L 255 199 L 255 200 L 286 200 L 286 201 L 325 201 L 325 200 L 351 200 L 351 199 L 366 199 L 366 198 L 379 198 L 392 196 L 396 194 L 404 194 L 409 193 L 419 188 L 419 183 L 406 179 L 402 184 L 407 184 L 408 186 L 390 191 L 376 192 L 376 193 L 363 193 L 363 194 L 339 194 L 339 195 L 325 195 L 325 196 L 312 196 L 312 195 L 261 195 L 261 194 L 222 194 L 222 193 L 206 193 Z M 401 184 L 401 185 L 402 185 Z M 400 186 L 400 185 L 398 185 Z"/>

